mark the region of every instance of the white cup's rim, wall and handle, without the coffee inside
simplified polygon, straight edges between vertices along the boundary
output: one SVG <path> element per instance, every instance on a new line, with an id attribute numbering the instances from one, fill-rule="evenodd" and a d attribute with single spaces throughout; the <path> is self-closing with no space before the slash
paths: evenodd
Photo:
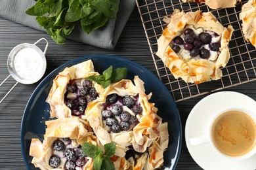
<path id="1" fill-rule="evenodd" d="M 228 111 L 240 111 L 240 112 L 244 112 L 245 114 L 247 114 L 254 122 L 255 126 L 256 126 L 256 113 L 251 112 L 250 110 L 247 110 L 245 108 L 242 107 L 234 107 L 234 108 L 230 108 L 230 109 L 225 109 L 225 110 L 221 110 L 220 112 L 218 112 L 215 116 L 213 116 L 211 118 L 211 120 L 209 121 L 210 123 L 207 125 L 207 131 L 205 134 L 197 136 L 197 137 L 191 137 L 189 139 L 189 142 L 192 146 L 195 145 L 200 145 L 200 144 L 211 144 L 211 147 L 213 148 L 213 150 L 215 150 L 215 152 L 219 153 L 221 156 L 224 156 L 225 158 L 228 158 L 230 160 L 245 160 L 251 156 L 253 156 L 254 154 L 256 154 L 256 139 L 254 139 L 254 146 L 253 148 L 251 148 L 251 150 L 241 156 L 229 156 L 227 154 L 224 154 L 223 152 L 221 152 L 214 144 L 213 142 L 213 138 L 212 138 L 212 127 L 213 127 L 213 123 L 215 122 L 215 120 L 217 120 L 217 118 L 219 116 L 221 116 L 221 114 L 224 114 L 225 112 Z"/>

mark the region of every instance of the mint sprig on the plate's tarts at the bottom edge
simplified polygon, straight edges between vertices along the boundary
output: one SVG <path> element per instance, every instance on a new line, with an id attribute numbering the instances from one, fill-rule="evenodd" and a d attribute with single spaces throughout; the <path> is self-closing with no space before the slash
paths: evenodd
<path id="1" fill-rule="evenodd" d="M 97 146 L 87 142 L 83 143 L 82 150 L 85 155 L 93 158 L 93 167 L 95 170 L 115 169 L 114 163 L 110 160 L 110 157 L 113 156 L 116 152 L 115 143 L 104 144 L 104 154 L 101 148 L 98 148 Z"/>

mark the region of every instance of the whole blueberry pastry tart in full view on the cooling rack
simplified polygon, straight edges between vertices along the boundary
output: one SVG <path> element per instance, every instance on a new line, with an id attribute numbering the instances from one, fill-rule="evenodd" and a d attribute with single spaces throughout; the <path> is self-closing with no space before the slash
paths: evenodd
<path id="1" fill-rule="evenodd" d="M 234 29 L 223 27 L 211 12 L 175 10 L 158 39 L 156 55 L 175 78 L 202 83 L 221 78 L 230 58 L 228 42 Z"/>

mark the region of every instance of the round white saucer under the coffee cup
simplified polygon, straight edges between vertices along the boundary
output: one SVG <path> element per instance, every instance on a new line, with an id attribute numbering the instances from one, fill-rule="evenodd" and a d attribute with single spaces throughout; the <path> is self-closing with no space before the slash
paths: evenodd
<path id="1" fill-rule="evenodd" d="M 205 135 L 211 117 L 228 107 L 244 107 L 256 113 L 256 101 L 238 92 L 217 92 L 203 98 L 191 110 L 186 120 L 185 139 L 190 155 L 205 170 L 255 170 L 256 154 L 247 160 L 228 160 L 217 153 L 209 143 L 192 146 L 190 138 Z"/>

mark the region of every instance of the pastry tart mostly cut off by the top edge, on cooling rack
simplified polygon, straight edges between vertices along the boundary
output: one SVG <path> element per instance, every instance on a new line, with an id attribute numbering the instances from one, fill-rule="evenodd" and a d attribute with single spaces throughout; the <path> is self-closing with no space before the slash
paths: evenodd
<path id="1" fill-rule="evenodd" d="M 205 5 L 208 5 L 211 9 L 220 9 L 220 8 L 232 8 L 236 7 L 236 3 L 238 1 L 241 2 L 241 0 L 182 0 L 185 2 L 195 2 L 198 4 L 205 3 Z"/>

